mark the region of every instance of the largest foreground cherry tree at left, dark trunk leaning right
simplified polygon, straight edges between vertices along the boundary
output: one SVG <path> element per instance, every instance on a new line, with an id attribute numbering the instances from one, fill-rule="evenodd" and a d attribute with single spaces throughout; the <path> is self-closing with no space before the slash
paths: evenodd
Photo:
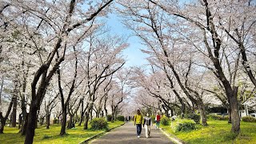
<path id="1" fill-rule="evenodd" d="M 70 2 L 12 1 L 8 3 L 10 5 L 8 8 L 11 7 L 9 14 L 12 14 L 12 17 L 9 16 L 9 18 L 14 19 L 9 19 L 6 25 L 13 23 L 17 25 L 18 21 L 23 19 L 23 26 L 29 30 L 29 33 L 24 33 L 24 35 L 27 35 L 27 40 L 32 41 L 27 43 L 32 43 L 36 52 L 40 49 L 48 52 L 48 56 L 39 57 L 42 61 L 31 84 L 32 97 L 25 143 L 33 142 L 37 110 L 46 93 L 46 86 L 48 86 L 60 63 L 64 61 L 66 49 L 69 47 L 66 44 L 69 41 L 69 36 L 73 35 L 71 38 L 74 38 L 74 34 L 79 33 L 74 30 L 88 29 L 87 24 L 93 21 L 101 11 L 105 11 L 110 2 L 112 0 L 88 3 L 89 7 L 84 9 L 73 0 Z M 95 5 L 95 9 L 90 5 Z M 60 12 L 59 6 L 63 7 L 62 12 Z M 41 55 L 40 52 L 38 53 Z M 59 57 L 57 57 L 57 53 Z"/>

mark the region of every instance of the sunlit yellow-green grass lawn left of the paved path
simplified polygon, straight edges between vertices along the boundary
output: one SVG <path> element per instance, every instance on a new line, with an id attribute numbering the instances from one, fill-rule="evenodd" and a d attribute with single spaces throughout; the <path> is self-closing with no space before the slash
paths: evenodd
<path id="1" fill-rule="evenodd" d="M 116 126 L 122 125 L 124 122 L 108 122 L 108 127 L 113 128 Z M 66 135 L 60 136 L 61 126 L 53 125 L 50 126 L 50 129 L 46 130 L 45 126 L 38 126 L 38 129 L 35 130 L 34 143 L 47 143 L 47 144 L 72 144 L 79 143 L 87 138 L 99 134 L 104 130 L 83 130 L 83 126 L 76 126 L 75 129 L 66 130 Z M 0 134 L 0 143 L 24 143 L 25 137 L 22 137 L 18 134 L 17 128 L 10 128 L 5 126 L 5 134 Z"/>

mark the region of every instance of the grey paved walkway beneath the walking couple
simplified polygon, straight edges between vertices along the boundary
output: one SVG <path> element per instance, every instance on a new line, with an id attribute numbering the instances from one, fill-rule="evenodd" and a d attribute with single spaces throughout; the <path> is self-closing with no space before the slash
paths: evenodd
<path id="1" fill-rule="evenodd" d="M 137 138 L 136 126 L 133 122 L 128 122 L 124 126 L 120 126 L 102 137 L 93 140 L 91 144 L 171 144 L 169 138 L 162 134 L 161 130 L 154 130 L 151 127 L 150 138 L 146 138 L 145 129 L 142 126 L 141 138 Z"/>

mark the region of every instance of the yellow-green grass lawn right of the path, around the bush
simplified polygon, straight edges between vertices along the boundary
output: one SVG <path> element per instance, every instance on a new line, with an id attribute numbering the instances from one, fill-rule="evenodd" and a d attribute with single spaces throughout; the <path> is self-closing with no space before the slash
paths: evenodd
<path id="1" fill-rule="evenodd" d="M 231 124 L 228 124 L 226 121 L 210 120 L 207 122 L 209 126 L 197 125 L 197 130 L 190 130 L 187 132 L 175 132 L 175 125 L 177 124 L 177 122 L 181 121 L 182 120 L 177 120 L 175 122 L 172 122 L 171 126 L 162 126 L 162 128 L 167 133 L 174 134 L 177 138 L 180 138 L 183 142 L 187 143 L 256 144 L 255 122 L 241 122 L 241 134 L 239 134 L 238 137 L 235 138 L 234 134 L 230 133 Z"/>

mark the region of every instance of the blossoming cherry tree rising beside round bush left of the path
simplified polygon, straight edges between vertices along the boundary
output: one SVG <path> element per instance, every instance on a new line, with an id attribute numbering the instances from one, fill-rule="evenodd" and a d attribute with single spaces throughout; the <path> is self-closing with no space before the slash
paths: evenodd
<path id="1" fill-rule="evenodd" d="M 88 128 L 89 114 L 92 113 L 94 102 L 97 99 L 97 92 L 102 83 L 108 77 L 117 72 L 124 65 L 121 52 L 127 46 L 125 40 L 121 37 L 111 37 L 106 35 L 106 39 L 91 37 L 89 41 L 89 50 L 86 54 L 86 94 L 88 106 L 85 112 L 84 129 Z M 108 56 L 106 56 L 108 55 Z"/>

